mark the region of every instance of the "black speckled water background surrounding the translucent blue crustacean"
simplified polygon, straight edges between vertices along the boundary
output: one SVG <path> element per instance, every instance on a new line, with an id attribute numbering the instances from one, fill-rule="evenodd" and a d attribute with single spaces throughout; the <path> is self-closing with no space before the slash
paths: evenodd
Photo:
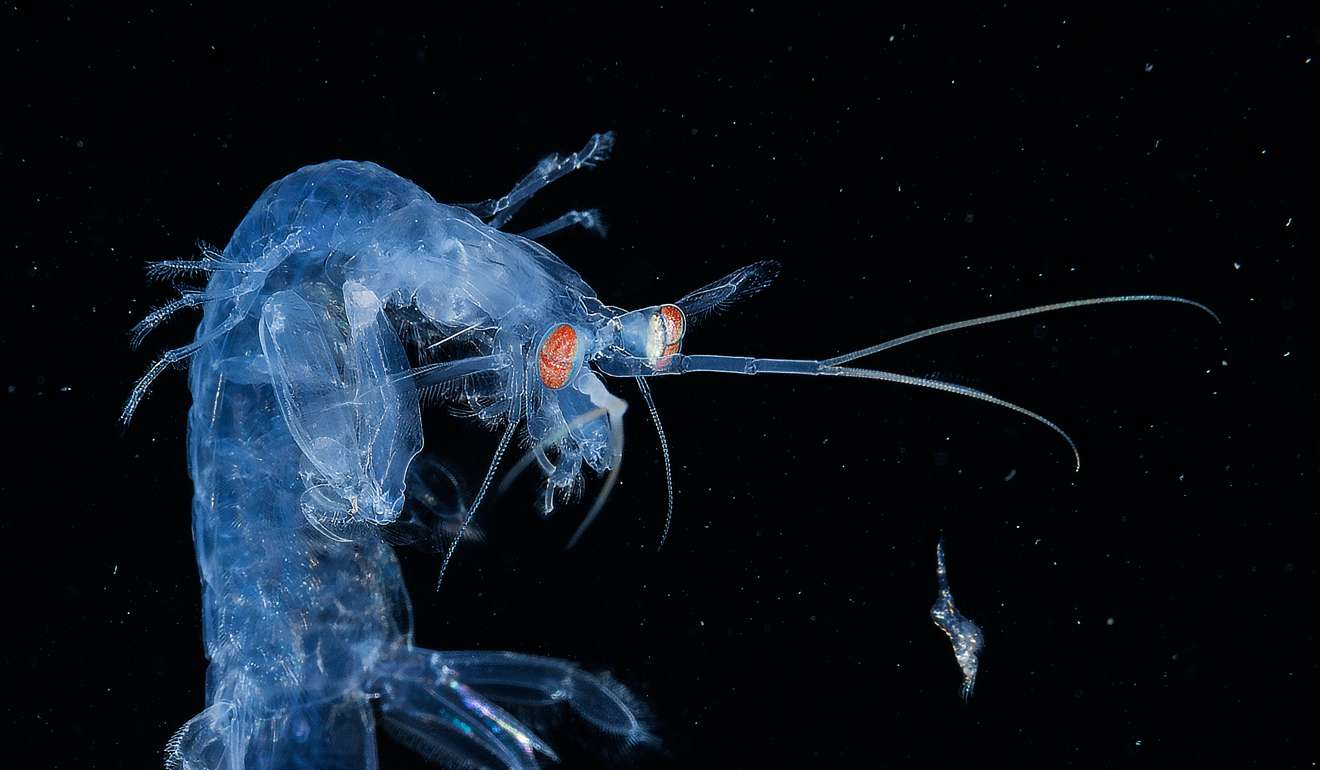
<path id="1" fill-rule="evenodd" d="M 267 184 L 374 160 L 441 201 L 498 195 L 595 131 L 603 166 L 516 222 L 616 305 L 756 259 L 763 296 L 700 353 L 826 357 L 1084 296 L 1176 293 L 1003 324 L 874 366 L 1055 419 L 832 379 L 655 383 L 677 510 L 634 404 L 623 481 L 540 522 L 520 482 L 438 593 L 405 555 L 418 643 L 610 670 L 659 752 L 566 767 L 1309 766 L 1316 687 L 1320 28 L 1250 4 L 1084 18 L 962 7 L 554 4 L 153 11 L 20 3 L 3 49 L 0 538 L 9 766 L 153 767 L 202 705 L 183 375 L 128 432 L 169 288 L 148 259 L 226 242 Z M 381 4 L 383 5 L 383 4 Z M 469 474 L 495 437 L 442 412 Z M 927 617 L 946 539 L 987 647 L 969 704 Z M 421 761 L 381 740 L 381 766 Z M 17 762 L 17 763 L 11 763 Z"/>

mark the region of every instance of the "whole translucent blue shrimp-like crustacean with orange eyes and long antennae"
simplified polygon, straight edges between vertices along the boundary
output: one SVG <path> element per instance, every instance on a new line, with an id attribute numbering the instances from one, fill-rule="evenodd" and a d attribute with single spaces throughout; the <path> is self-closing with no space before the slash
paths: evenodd
<path id="1" fill-rule="evenodd" d="M 172 767 L 376 767 L 383 726 L 422 754 L 463 766 L 533 767 L 549 745 L 502 705 L 566 704 L 614 740 L 655 738 L 622 685 L 556 659 L 418 648 L 393 545 L 444 551 L 444 568 L 517 440 L 544 481 L 537 507 L 605 474 L 574 535 L 602 510 L 623 458 L 626 402 L 602 378 L 631 378 L 668 446 L 647 379 L 694 371 L 862 378 L 1022 407 L 932 379 L 845 366 L 920 337 L 1104 302 L 1081 300 L 937 326 L 825 361 L 685 355 L 688 326 L 766 288 L 777 267 L 748 265 L 672 304 L 606 305 L 533 238 L 504 230 L 539 189 L 606 157 L 610 133 L 550 156 L 511 193 L 445 205 L 370 162 L 330 161 L 272 184 L 223 250 L 152 265 L 209 276 L 150 313 L 139 342 L 174 313 L 201 309 L 193 342 L 166 351 L 133 387 L 127 423 L 152 382 L 189 365 L 189 469 L 203 588 L 206 709 L 169 742 Z M 1208 310 L 1206 310 L 1208 312 Z M 445 458 L 418 462 L 424 405 L 499 429 L 471 487 Z M 1065 436 L 1067 437 L 1067 436 Z M 1072 441 L 1069 440 L 1072 446 Z M 409 502 L 412 501 L 412 502 Z M 668 532 L 668 514 L 665 531 Z M 371 708 L 378 701 L 379 708 Z"/>

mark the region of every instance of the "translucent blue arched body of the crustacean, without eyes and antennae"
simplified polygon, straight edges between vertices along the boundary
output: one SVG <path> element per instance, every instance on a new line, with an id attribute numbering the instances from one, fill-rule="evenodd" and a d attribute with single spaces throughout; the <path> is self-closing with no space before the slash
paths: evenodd
<path id="1" fill-rule="evenodd" d="M 623 742 L 649 740 L 607 676 L 416 647 L 387 540 L 422 446 L 418 387 L 436 379 L 411 370 L 391 314 L 420 310 L 433 334 L 469 329 L 459 343 L 477 355 L 463 361 L 478 363 L 440 387 L 515 421 L 527 394 L 512 358 L 544 318 L 582 313 L 586 284 L 531 240 L 347 161 L 271 185 L 207 260 L 187 421 L 207 708 L 170 741 L 168 765 L 376 767 L 378 717 L 445 762 L 553 757 L 496 703 L 566 703 Z"/>

